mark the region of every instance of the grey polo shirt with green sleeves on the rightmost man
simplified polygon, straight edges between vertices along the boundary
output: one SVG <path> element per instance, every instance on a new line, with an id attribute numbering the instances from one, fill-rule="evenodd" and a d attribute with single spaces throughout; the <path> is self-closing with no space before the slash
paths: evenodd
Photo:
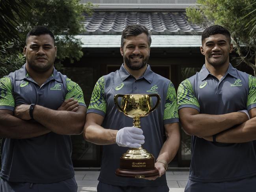
<path id="1" fill-rule="evenodd" d="M 199 73 L 181 82 L 178 109 L 195 108 L 202 114 L 227 114 L 256 107 L 256 78 L 229 65 L 219 81 L 205 65 Z M 207 127 L 206 127 L 207 129 Z M 256 175 L 253 142 L 223 144 L 192 136 L 189 179 L 224 182 Z"/>

